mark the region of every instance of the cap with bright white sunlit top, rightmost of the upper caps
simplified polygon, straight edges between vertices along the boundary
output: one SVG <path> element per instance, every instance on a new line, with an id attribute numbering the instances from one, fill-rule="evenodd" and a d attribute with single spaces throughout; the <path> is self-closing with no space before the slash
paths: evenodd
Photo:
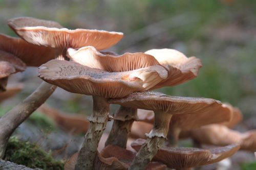
<path id="1" fill-rule="evenodd" d="M 183 53 L 173 49 L 153 49 L 146 51 L 145 54 L 154 56 L 168 70 L 168 78 L 162 80 L 151 90 L 178 85 L 194 79 L 202 67 L 200 59 L 196 57 L 187 58 Z"/>

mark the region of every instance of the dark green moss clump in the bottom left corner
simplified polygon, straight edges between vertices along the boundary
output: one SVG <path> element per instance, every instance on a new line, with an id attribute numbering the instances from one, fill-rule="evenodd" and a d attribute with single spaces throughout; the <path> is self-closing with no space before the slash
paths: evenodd
<path id="1" fill-rule="evenodd" d="M 36 144 L 20 141 L 15 136 L 9 139 L 5 160 L 31 168 L 47 170 L 64 169 L 63 161 L 54 160 L 51 153 L 42 151 Z"/>

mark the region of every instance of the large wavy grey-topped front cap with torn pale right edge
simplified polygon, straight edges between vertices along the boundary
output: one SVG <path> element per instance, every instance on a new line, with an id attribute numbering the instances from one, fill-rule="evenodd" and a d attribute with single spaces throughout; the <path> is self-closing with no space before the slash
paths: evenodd
<path id="1" fill-rule="evenodd" d="M 162 66 L 108 72 L 76 62 L 51 60 L 39 67 L 39 77 L 73 93 L 121 98 L 151 88 L 167 76 Z"/>

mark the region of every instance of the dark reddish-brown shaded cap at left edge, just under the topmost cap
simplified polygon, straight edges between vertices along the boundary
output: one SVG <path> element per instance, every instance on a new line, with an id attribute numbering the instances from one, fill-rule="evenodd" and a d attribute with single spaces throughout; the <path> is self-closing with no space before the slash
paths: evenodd
<path id="1" fill-rule="evenodd" d="M 28 66 L 38 67 L 55 58 L 54 49 L 51 47 L 34 45 L 4 34 L 0 34 L 0 50 L 16 56 Z"/>

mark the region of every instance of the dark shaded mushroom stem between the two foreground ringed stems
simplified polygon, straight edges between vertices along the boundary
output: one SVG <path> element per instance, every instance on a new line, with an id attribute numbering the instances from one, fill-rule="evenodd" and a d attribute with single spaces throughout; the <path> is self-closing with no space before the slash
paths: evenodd
<path id="1" fill-rule="evenodd" d="M 121 148 L 126 148 L 128 136 L 134 120 L 138 119 L 137 109 L 120 106 L 115 113 L 114 123 L 105 146 L 112 144 Z"/>

